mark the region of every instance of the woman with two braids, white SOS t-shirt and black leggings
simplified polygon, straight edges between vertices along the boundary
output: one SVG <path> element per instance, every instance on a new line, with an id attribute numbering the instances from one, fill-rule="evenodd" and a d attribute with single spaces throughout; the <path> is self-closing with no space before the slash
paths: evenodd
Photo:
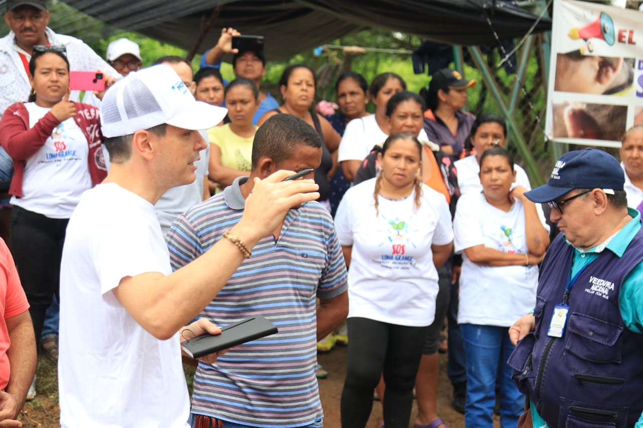
<path id="1" fill-rule="evenodd" d="M 420 178 L 422 145 L 406 132 L 386 139 L 377 178 L 353 186 L 335 218 L 349 270 L 349 357 L 341 422 L 364 427 L 384 375 L 387 428 L 408 427 L 413 384 L 435 316 L 438 272 L 453 231 L 444 196 Z"/>

